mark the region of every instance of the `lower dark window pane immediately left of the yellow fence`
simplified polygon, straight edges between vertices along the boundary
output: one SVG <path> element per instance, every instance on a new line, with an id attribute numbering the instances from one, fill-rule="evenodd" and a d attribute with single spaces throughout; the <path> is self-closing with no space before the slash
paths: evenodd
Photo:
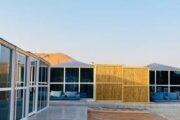
<path id="1" fill-rule="evenodd" d="M 93 85 L 81 84 L 80 96 L 81 98 L 93 98 Z"/>

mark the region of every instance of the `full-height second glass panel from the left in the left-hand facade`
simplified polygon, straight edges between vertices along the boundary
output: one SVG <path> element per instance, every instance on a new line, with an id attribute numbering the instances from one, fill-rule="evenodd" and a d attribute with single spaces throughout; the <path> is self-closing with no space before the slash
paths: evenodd
<path id="1" fill-rule="evenodd" d="M 26 116 L 26 56 L 17 54 L 15 78 L 15 120 Z"/>

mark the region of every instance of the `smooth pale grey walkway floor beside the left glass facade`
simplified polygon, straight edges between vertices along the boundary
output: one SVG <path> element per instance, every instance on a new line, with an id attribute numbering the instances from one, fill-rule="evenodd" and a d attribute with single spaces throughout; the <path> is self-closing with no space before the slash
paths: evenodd
<path id="1" fill-rule="evenodd" d="M 28 120 L 87 120 L 87 107 L 49 107 Z"/>

